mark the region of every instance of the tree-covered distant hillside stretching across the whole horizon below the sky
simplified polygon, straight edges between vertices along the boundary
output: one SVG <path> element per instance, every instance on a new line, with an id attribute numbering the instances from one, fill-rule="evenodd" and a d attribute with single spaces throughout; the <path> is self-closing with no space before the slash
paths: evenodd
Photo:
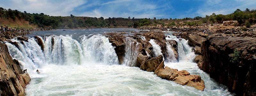
<path id="1" fill-rule="evenodd" d="M 227 20 L 237 20 L 237 26 L 246 26 L 256 23 L 256 10 L 244 11 L 237 9 L 235 12 L 222 15 L 212 13 L 210 16 L 183 19 L 134 19 L 133 18 L 108 18 L 103 17 L 76 17 L 70 16 L 49 16 L 44 13 L 27 13 L 18 10 L 4 9 L 0 7 L 0 25 L 9 25 L 11 27 L 19 28 L 36 28 L 36 27 L 50 27 L 54 29 L 61 28 L 138 28 L 142 26 L 198 26 L 203 23 L 211 24 L 222 23 Z"/>

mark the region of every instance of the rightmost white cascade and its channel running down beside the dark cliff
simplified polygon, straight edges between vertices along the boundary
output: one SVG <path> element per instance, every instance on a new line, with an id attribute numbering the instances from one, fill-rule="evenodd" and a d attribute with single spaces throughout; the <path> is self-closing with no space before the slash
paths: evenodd
<path id="1" fill-rule="evenodd" d="M 178 42 L 179 62 L 166 61 L 164 62 L 165 66 L 178 70 L 187 70 L 191 75 L 200 75 L 205 84 L 204 92 L 210 93 L 212 96 L 232 96 L 225 86 L 216 83 L 208 74 L 200 70 L 196 63 L 193 62 L 196 54 L 192 51 L 192 47 L 188 45 L 188 40 L 180 40 L 176 36 L 172 35 L 167 36 L 166 40 L 175 40 Z M 172 49 L 168 48 L 168 46 L 167 52 L 172 52 Z"/>

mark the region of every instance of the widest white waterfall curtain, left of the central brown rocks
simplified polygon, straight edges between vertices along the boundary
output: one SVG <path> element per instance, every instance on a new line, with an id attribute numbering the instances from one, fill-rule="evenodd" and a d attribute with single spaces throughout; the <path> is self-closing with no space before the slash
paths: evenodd
<path id="1" fill-rule="evenodd" d="M 33 37 L 28 37 L 28 42 L 12 39 L 18 43 L 19 49 L 6 42 L 12 58 L 20 62 L 22 69 L 33 70 L 29 71 L 31 74 L 46 64 L 118 64 L 114 47 L 102 35 L 80 36 L 80 42 L 68 35 L 39 38 L 43 41 L 44 51 Z"/>

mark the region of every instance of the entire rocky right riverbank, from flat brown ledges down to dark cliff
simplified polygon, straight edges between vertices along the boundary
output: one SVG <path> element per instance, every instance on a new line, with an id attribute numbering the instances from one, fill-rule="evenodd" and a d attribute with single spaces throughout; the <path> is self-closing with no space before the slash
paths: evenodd
<path id="1" fill-rule="evenodd" d="M 238 96 L 256 95 L 256 27 L 236 27 L 232 24 L 212 27 L 171 28 L 173 34 L 188 40 L 198 54 L 194 62 L 211 78 L 224 84 Z"/>

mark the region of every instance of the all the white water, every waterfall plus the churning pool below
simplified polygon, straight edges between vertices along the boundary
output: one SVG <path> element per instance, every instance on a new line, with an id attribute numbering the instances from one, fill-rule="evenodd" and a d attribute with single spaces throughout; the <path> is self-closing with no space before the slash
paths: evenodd
<path id="1" fill-rule="evenodd" d="M 153 72 L 140 70 L 134 66 L 136 42 L 126 38 L 124 64 L 118 65 L 114 47 L 108 38 L 100 34 L 51 35 L 40 37 L 44 41 L 44 51 L 30 37 L 28 42 L 16 41 L 19 47 L 6 43 L 11 56 L 19 60 L 23 69 L 28 69 L 32 80 L 26 88 L 28 96 L 227 96 L 228 90 L 217 84 L 210 76 L 197 67 L 195 57 L 188 41 L 178 40 L 175 36 L 166 39 L 178 42 L 178 61 L 164 62 L 165 66 L 186 69 L 190 74 L 200 75 L 205 82 L 204 91 L 182 86 L 161 79 Z M 145 37 L 141 37 L 144 38 Z M 54 39 L 54 42 L 52 42 Z M 24 43 L 24 44 L 22 44 Z M 53 44 L 52 44 L 53 43 Z M 155 55 L 161 48 L 150 40 Z M 168 49 L 168 48 L 167 48 Z M 168 51 L 167 52 L 172 52 Z M 36 74 L 39 69 L 41 74 Z"/>

